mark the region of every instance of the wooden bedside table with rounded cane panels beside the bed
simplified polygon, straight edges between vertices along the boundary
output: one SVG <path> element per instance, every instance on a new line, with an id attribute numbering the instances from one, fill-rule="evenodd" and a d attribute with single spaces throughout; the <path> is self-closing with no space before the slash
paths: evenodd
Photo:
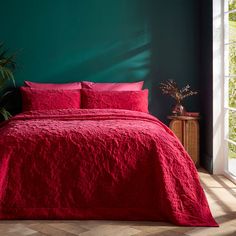
<path id="1" fill-rule="evenodd" d="M 168 116 L 169 127 L 179 138 L 196 166 L 199 166 L 199 117 Z"/>

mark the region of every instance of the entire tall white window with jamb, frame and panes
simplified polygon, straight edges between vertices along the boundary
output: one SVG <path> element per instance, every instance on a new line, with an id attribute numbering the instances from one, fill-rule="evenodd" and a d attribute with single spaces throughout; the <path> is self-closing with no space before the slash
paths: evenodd
<path id="1" fill-rule="evenodd" d="M 213 173 L 236 183 L 236 0 L 213 1 Z"/>

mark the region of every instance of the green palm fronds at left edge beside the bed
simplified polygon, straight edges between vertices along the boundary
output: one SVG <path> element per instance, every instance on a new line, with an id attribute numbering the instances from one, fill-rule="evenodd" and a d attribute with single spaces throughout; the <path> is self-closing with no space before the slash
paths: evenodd
<path id="1" fill-rule="evenodd" d="M 13 71 L 16 68 L 15 54 L 8 54 L 8 50 L 4 49 L 4 44 L 0 43 L 0 116 L 7 120 L 11 114 L 5 108 L 6 97 L 12 92 L 6 87 L 10 83 L 15 87 L 15 79 Z"/>

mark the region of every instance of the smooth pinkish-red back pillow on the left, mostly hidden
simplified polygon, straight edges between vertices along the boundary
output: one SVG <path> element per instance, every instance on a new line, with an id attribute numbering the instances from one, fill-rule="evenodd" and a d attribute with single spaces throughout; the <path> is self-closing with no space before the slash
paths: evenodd
<path id="1" fill-rule="evenodd" d="M 36 83 L 25 81 L 25 86 L 37 89 L 81 89 L 81 82 L 66 83 L 66 84 L 49 84 L 49 83 Z"/>

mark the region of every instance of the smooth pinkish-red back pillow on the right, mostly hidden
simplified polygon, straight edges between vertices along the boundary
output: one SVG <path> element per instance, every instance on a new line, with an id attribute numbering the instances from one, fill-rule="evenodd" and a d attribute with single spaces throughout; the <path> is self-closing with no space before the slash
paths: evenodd
<path id="1" fill-rule="evenodd" d="M 81 83 L 82 88 L 97 91 L 140 91 L 143 87 L 143 81 L 134 83 L 94 83 L 83 81 Z"/>

